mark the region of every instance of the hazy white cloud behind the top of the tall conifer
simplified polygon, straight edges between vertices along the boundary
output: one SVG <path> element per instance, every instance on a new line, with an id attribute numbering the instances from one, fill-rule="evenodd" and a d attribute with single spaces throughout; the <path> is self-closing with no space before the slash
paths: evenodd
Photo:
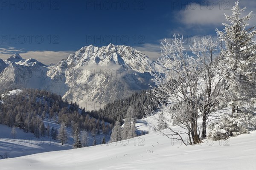
<path id="1" fill-rule="evenodd" d="M 177 20 L 186 24 L 188 27 L 193 26 L 220 26 L 221 23 L 227 22 L 225 14 L 232 14 L 232 7 L 235 5 L 235 0 L 219 0 L 212 1 L 208 0 L 204 4 L 200 3 L 189 3 L 185 10 L 181 10 L 177 14 Z M 246 6 L 247 9 L 244 11 L 243 15 L 248 14 L 253 11 L 256 13 L 256 1 L 253 0 L 240 0 L 240 8 Z M 250 26 L 256 25 L 255 17 L 250 20 Z"/>

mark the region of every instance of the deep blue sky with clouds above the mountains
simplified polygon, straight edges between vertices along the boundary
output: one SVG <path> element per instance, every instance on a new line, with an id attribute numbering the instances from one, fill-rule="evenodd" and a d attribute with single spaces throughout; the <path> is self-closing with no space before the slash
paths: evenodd
<path id="1" fill-rule="evenodd" d="M 109 43 L 129 45 L 154 58 L 160 51 L 160 40 L 171 38 L 174 33 L 189 38 L 196 35 L 215 36 L 215 28 L 222 28 L 221 23 L 225 21 L 223 13 L 229 13 L 228 9 L 235 1 L 29 2 L 0 1 L 0 58 L 6 59 L 6 54 L 15 52 L 27 54 L 28 57 L 22 57 L 30 58 L 31 51 L 69 54 L 86 45 L 104 46 Z M 241 4 L 247 5 L 255 14 L 255 2 L 244 0 Z M 60 56 L 56 54 L 56 57 Z M 58 60 L 53 59 L 52 62 Z"/>

